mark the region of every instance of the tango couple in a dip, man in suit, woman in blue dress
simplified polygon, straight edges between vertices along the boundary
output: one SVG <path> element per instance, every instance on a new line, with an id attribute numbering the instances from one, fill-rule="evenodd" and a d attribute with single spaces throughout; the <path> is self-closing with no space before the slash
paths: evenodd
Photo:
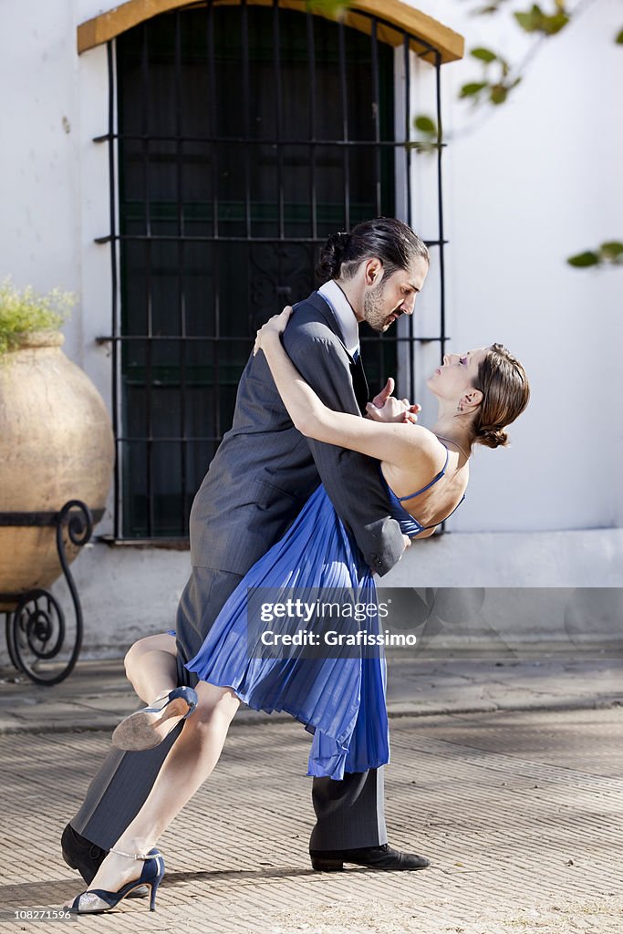
<path id="1" fill-rule="evenodd" d="M 528 403 L 525 372 L 499 344 L 446 355 L 428 380 L 430 430 L 416 424 L 417 405 L 390 395 L 392 380 L 368 402 L 358 326 L 384 333 L 413 314 L 429 263 L 401 221 L 365 221 L 329 238 L 319 290 L 258 332 L 232 429 L 192 504 L 176 630 L 125 658 L 149 706 L 115 730 L 64 829 L 64 859 L 89 885 L 76 913 L 149 889 L 153 908 L 164 870 L 156 844 L 216 766 L 240 701 L 287 711 L 313 733 L 314 869 L 429 865 L 388 843 L 384 659 L 260 658 L 247 644 L 249 588 L 339 587 L 374 600 L 373 573 L 460 505 L 473 446 L 505 445 L 505 426 Z"/>

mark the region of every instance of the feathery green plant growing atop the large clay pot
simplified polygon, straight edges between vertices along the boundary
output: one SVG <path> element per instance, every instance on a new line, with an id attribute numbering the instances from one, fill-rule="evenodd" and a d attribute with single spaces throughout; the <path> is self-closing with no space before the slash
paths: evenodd
<path id="1" fill-rule="evenodd" d="M 57 331 L 76 304 L 72 292 L 52 289 L 39 295 L 32 286 L 18 289 L 10 276 L 0 283 L 0 355 L 19 344 L 19 335 Z"/>

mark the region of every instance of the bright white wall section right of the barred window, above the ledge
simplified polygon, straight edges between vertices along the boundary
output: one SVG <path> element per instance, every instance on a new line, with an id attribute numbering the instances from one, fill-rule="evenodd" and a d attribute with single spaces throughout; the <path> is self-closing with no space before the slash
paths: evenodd
<path id="1" fill-rule="evenodd" d="M 484 45 L 517 62 L 532 41 L 508 15 L 469 16 L 474 5 L 456 0 L 413 6 L 465 35 L 466 50 Z M 532 389 L 512 447 L 474 458 L 453 531 L 621 525 L 623 270 L 564 262 L 623 236 L 623 122 L 609 90 L 623 81 L 619 20 L 615 0 L 589 7 L 544 43 L 498 108 L 458 102 L 481 73 L 469 55 L 442 69 L 448 333 L 457 349 L 502 341 Z M 431 69 L 419 71 L 426 106 Z M 424 229 L 434 193 L 426 180 L 418 186 Z"/>

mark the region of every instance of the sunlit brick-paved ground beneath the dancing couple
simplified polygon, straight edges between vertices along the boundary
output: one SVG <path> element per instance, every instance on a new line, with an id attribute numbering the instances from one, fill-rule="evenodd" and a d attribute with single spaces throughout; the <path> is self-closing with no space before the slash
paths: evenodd
<path id="1" fill-rule="evenodd" d="M 621 934 L 620 708 L 392 719 L 390 840 L 416 873 L 310 869 L 309 738 L 293 723 L 233 729 L 219 769 L 161 842 L 157 911 L 125 901 L 83 931 L 193 934 Z M 23 733 L 2 748 L 3 906 L 79 890 L 58 837 L 104 756 L 98 732 Z M 249 781 L 253 774 L 254 780 Z M 4 921 L 1 930 L 60 931 Z"/>

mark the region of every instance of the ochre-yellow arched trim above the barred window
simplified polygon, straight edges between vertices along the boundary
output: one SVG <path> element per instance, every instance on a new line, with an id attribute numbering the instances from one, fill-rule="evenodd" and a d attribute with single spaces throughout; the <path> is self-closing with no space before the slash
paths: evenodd
<path id="1" fill-rule="evenodd" d="M 237 6 L 239 0 L 215 0 L 217 6 Z M 272 0 L 248 0 L 254 6 L 268 7 Z M 304 0 L 281 0 L 282 7 L 304 11 Z M 114 39 L 115 36 L 132 29 L 139 22 L 150 20 L 159 13 L 167 13 L 180 7 L 189 7 L 189 0 L 127 0 L 120 7 L 114 7 L 106 13 L 100 13 L 92 20 L 78 26 L 78 53 Z M 365 16 L 358 16 L 357 11 L 372 13 L 397 29 L 412 36 L 411 48 L 422 58 L 434 61 L 435 52 L 418 43 L 424 40 L 439 53 L 442 62 L 455 62 L 463 57 L 465 42 L 462 35 L 448 29 L 441 22 L 433 20 L 426 13 L 409 7 L 401 0 L 354 0 L 347 11 L 345 23 L 361 32 L 370 32 L 370 21 Z M 321 14 L 320 14 L 321 15 Z M 401 33 L 389 26 L 379 26 L 378 38 L 381 42 L 397 46 L 403 42 Z"/>

